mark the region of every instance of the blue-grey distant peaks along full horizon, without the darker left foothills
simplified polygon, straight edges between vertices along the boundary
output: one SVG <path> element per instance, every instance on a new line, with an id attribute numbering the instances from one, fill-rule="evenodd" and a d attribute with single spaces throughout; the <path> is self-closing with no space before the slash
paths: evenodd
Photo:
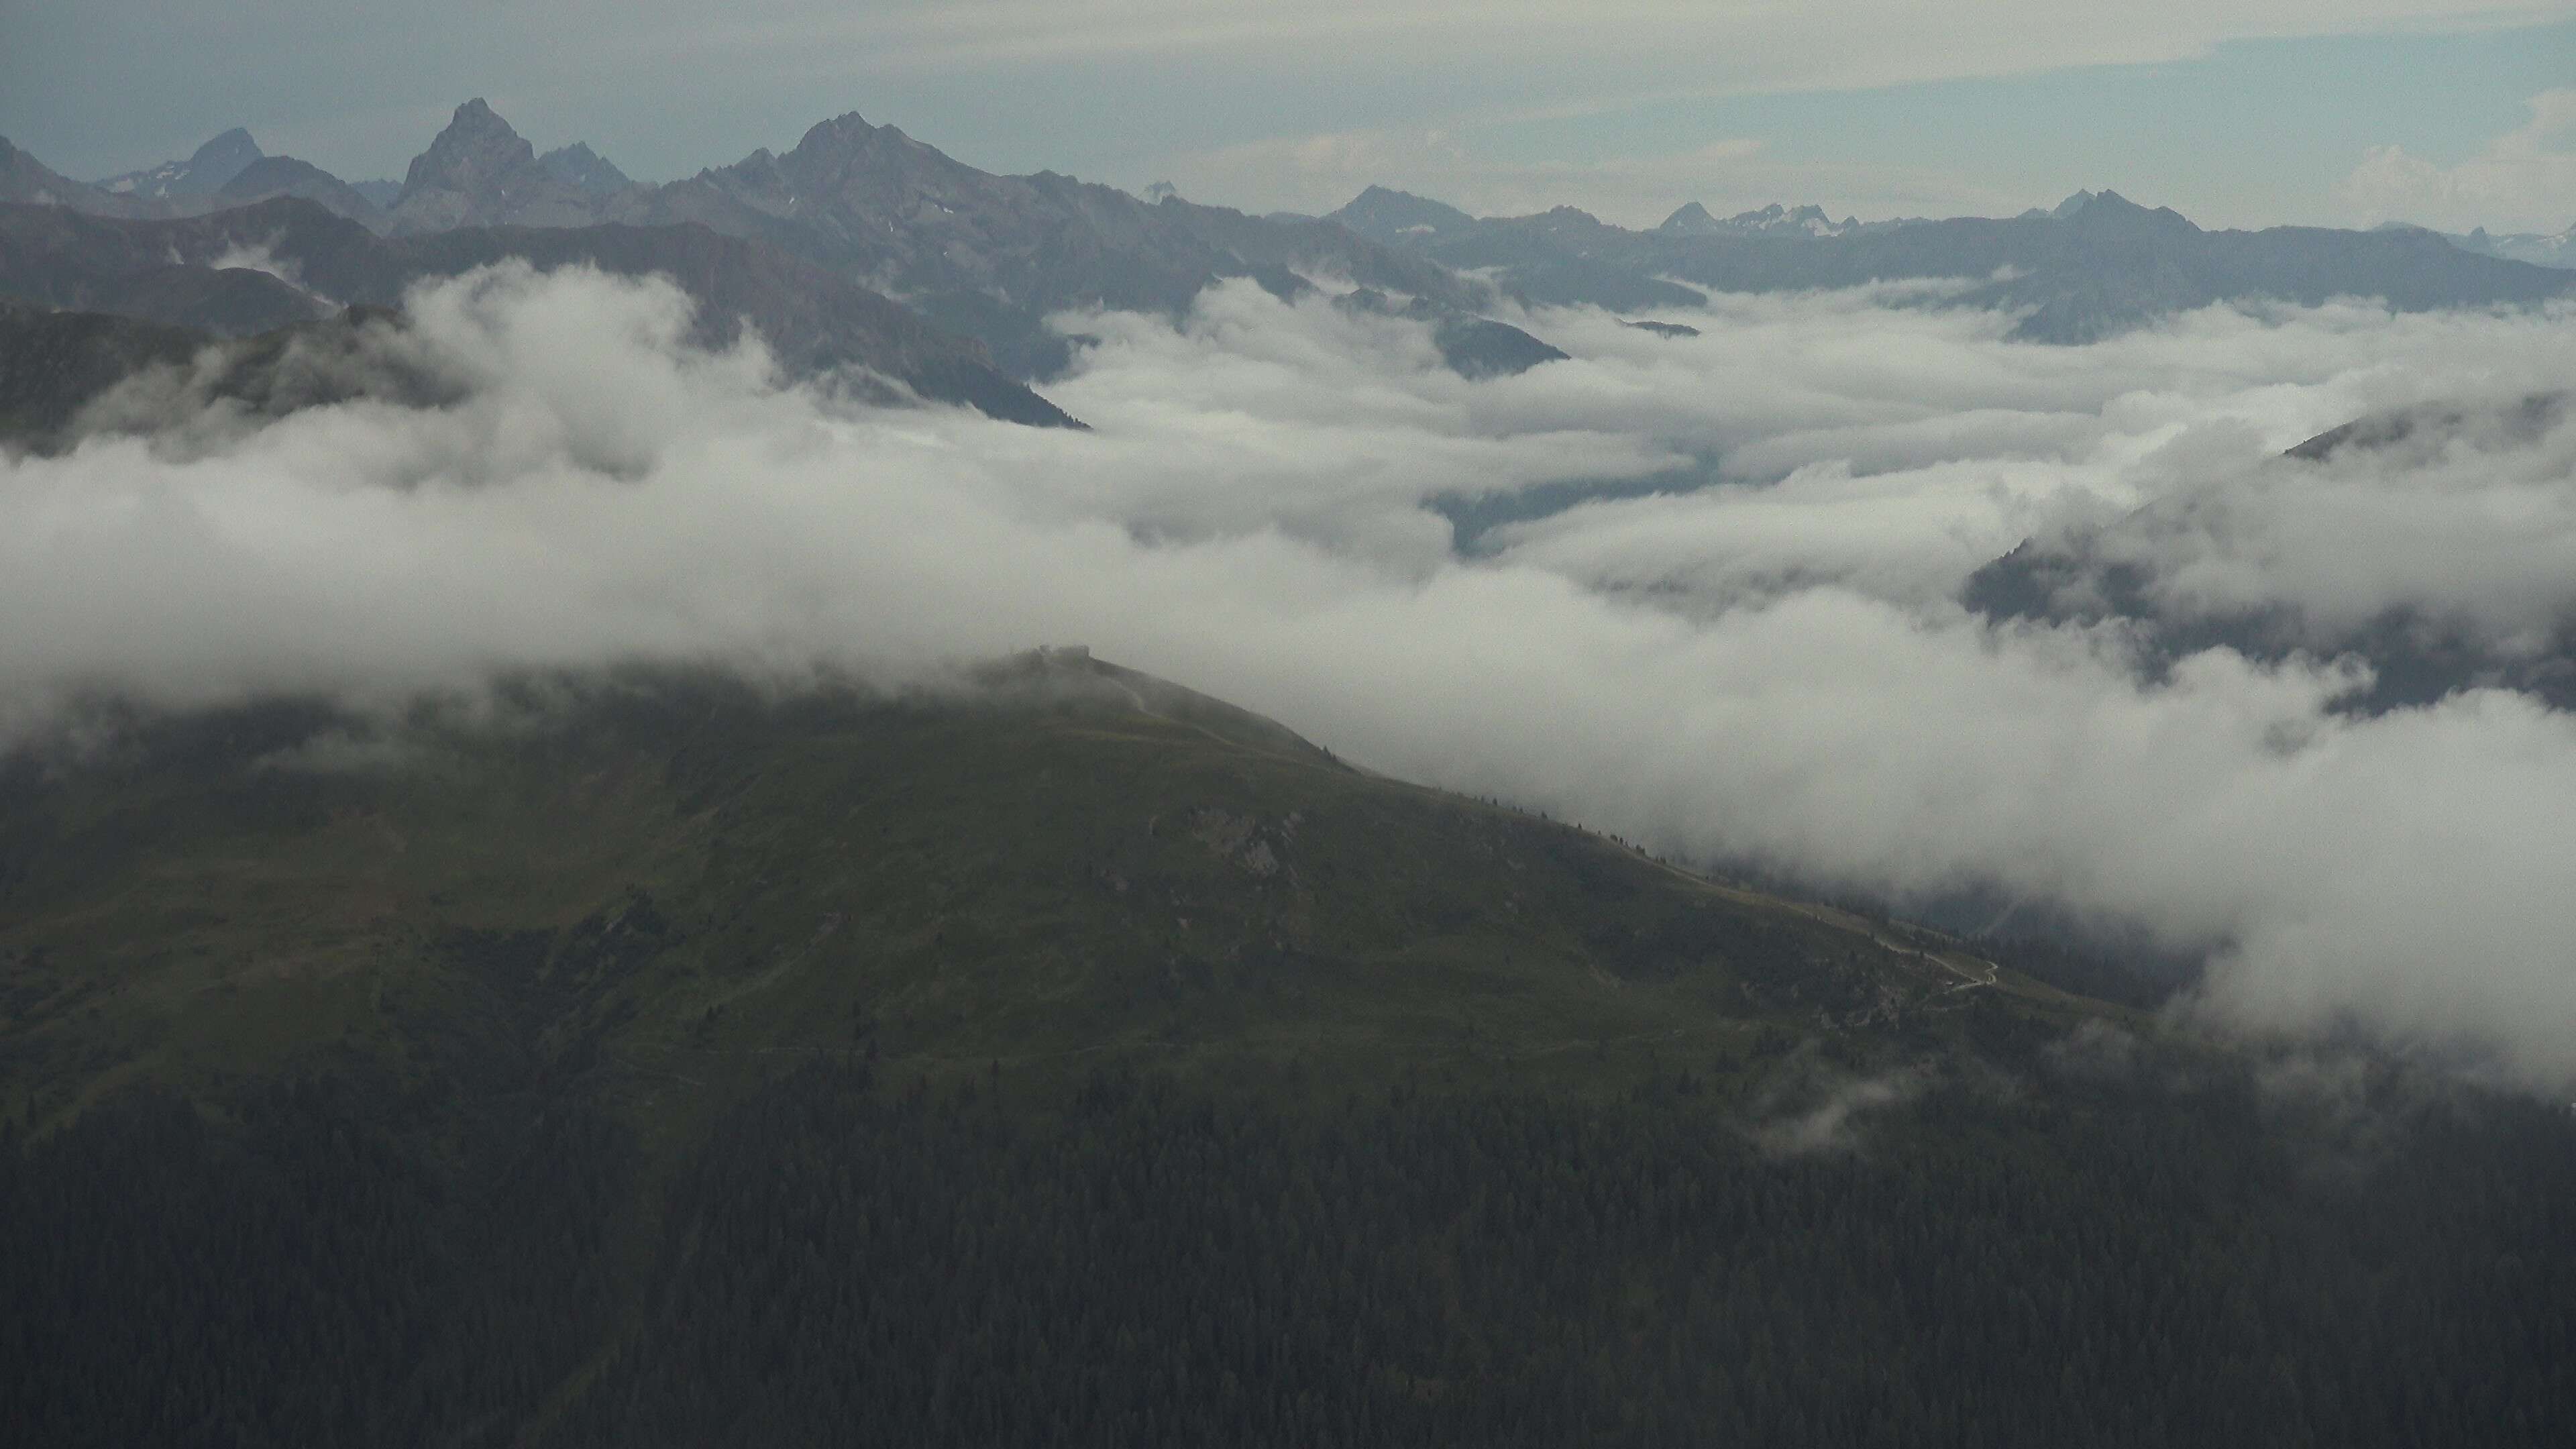
<path id="1" fill-rule="evenodd" d="M 1476 317 L 1497 299 L 1649 312 L 1698 307 L 1710 291 L 1942 281 L 1950 286 L 1935 304 L 2012 312 L 2012 335 L 2038 343 L 2087 343 L 2233 302 L 2367 297 L 2421 312 L 2576 294 L 2566 235 L 2205 232 L 2117 191 L 2076 191 L 2007 219 L 1940 222 L 1834 222 L 1821 206 L 1780 204 L 1721 219 L 1692 201 L 1636 232 L 1574 206 L 1479 219 L 1370 186 L 1332 217 L 1249 217 L 1190 204 L 1170 186 L 1146 201 L 1056 173 L 984 173 L 855 113 L 811 126 L 786 155 L 757 150 L 667 186 L 631 183 L 580 142 L 541 157 L 479 98 L 456 108 L 389 199 L 386 183 L 345 186 L 255 152 L 247 134 L 227 131 L 188 162 L 118 178 L 129 191 L 100 191 L 0 142 L 0 201 L 155 219 L 283 193 L 404 237 L 693 222 L 904 297 L 1020 379 L 1072 364 L 1077 343 L 1056 317 L 1177 317 L 1218 278 L 1257 278 L 1280 294 L 1334 278 L 1419 299 L 1440 317 Z M 224 180 L 198 191 L 216 173 Z"/>

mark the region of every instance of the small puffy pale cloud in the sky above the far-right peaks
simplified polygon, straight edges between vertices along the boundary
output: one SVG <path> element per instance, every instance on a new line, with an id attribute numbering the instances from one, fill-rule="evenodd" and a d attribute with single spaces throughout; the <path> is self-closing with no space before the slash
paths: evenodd
<path id="1" fill-rule="evenodd" d="M 2458 165 L 2370 147 L 2342 186 L 2362 224 L 2555 235 L 2576 224 L 2576 88 L 2532 95 L 2532 119 Z"/>

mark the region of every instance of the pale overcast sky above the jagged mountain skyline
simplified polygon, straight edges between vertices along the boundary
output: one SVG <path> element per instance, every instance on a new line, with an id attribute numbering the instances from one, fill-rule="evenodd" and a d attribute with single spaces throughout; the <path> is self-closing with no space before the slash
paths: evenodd
<path id="1" fill-rule="evenodd" d="M 0 0 L 0 134 L 77 178 L 237 124 L 399 178 L 469 95 L 657 180 L 858 111 L 1247 209 L 2576 222 L 2576 0 Z"/>

